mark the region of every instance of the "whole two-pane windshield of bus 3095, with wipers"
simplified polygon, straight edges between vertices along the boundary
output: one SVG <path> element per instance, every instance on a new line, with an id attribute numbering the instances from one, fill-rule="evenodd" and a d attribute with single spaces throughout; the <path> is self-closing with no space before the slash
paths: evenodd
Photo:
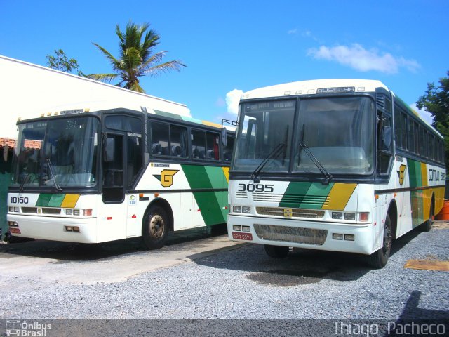
<path id="1" fill-rule="evenodd" d="M 321 175 L 321 165 L 330 174 L 369 174 L 374 117 L 374 101 L 368 97 L 243 103 L 232 169 Z"/>

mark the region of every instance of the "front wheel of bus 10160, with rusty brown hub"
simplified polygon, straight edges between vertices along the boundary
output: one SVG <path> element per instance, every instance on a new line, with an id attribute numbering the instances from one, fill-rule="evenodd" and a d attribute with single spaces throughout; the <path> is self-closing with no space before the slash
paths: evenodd
<path id="1" fill-rule="evenodd" d="M 163 246 L 168 234 L 168 216 L 160 206 L 152 206 L 142 223 L 142 240 L 147 249 Z"/>

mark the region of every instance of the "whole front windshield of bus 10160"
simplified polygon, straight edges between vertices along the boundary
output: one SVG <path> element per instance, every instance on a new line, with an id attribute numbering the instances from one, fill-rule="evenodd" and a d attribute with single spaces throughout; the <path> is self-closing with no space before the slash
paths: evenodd
<path id="1" fill-rule="evenodd" d="M 11 185 L 58 190 L 96 185 L 98 119 L 32 121 L 18 128 Z"/>

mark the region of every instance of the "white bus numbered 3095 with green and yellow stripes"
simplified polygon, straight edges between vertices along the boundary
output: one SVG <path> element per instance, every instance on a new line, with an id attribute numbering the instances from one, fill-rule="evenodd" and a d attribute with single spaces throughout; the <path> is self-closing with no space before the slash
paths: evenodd
<path id="1" fill-rule="evenodd" d="M 380 81 L 269 86 L 240 101 L 228 233 L 264 244 L 361 253 L 384 267 L 393 239 L 443 206 L 442 136 Z"/>

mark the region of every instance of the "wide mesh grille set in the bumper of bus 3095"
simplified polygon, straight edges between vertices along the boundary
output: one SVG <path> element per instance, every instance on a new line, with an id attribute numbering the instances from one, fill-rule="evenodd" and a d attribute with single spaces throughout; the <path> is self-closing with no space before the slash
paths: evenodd
<path id="1" fill-rule="evenodd" d="M 262 240 L 294 242 L 295 244 L 316 244 L 321 246 L 328 236 L 327 230 L 298 228 L 277 225 L 254 224 L 254 229 Z"/>

